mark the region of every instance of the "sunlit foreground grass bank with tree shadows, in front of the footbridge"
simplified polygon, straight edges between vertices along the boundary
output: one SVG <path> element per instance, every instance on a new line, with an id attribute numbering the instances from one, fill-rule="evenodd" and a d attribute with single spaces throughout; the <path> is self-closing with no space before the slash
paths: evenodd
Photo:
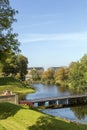
<path id="1" fill-rule="evenodd" d="M 0 103 L 0 130 L 86 130 L 87 126 L 52 117 L 29 108 Z"/>

